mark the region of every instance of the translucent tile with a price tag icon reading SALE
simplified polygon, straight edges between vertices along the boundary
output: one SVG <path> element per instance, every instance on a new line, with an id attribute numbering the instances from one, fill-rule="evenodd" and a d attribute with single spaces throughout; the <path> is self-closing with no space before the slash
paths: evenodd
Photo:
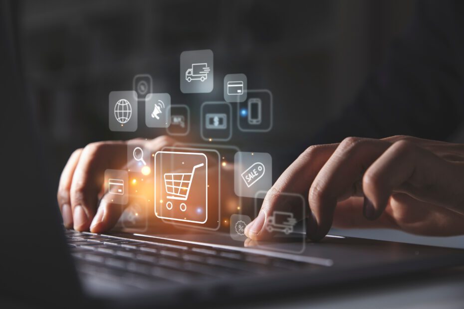
<path id="1" fill-rule="evenodd" d="M 234 156 L 234 191 L 237 196 L 254 197 L 272 186 L 272 158 L 267 153 L 237 152 Z"/>

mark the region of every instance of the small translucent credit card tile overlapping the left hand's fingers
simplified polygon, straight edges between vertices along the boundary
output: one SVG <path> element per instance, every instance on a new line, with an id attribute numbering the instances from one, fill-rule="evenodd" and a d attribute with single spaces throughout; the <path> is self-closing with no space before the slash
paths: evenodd
<path id="1" fill-rule="evenodd" d="M 129 174 L 126 170 L 105 170 L 105 193 L 115 204 L 125 205 L 129 196 Z"/>

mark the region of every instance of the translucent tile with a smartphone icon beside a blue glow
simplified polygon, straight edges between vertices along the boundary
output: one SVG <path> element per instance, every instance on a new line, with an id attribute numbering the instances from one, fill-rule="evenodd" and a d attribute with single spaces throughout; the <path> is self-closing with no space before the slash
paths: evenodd
<path id="1" fill-rule="evenodd" d="M 237 127 L 242 132 L 269 132 L 273 125 L 273 97 L 269 90 L 247 90 L 238 103 Z"/>

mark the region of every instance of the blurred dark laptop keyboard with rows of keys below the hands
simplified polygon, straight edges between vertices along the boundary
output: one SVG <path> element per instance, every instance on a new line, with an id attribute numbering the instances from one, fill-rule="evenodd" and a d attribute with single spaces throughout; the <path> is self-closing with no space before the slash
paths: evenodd
<path id="1" fill-rule="evenodd" d="M 148 288 L 156 282 L 189 284 L 323 267 L 163 240 L 143 242 L 73 230 L 66 230 L 65 235 L 81 277 L 97 276 L 137 288 Z"/>

